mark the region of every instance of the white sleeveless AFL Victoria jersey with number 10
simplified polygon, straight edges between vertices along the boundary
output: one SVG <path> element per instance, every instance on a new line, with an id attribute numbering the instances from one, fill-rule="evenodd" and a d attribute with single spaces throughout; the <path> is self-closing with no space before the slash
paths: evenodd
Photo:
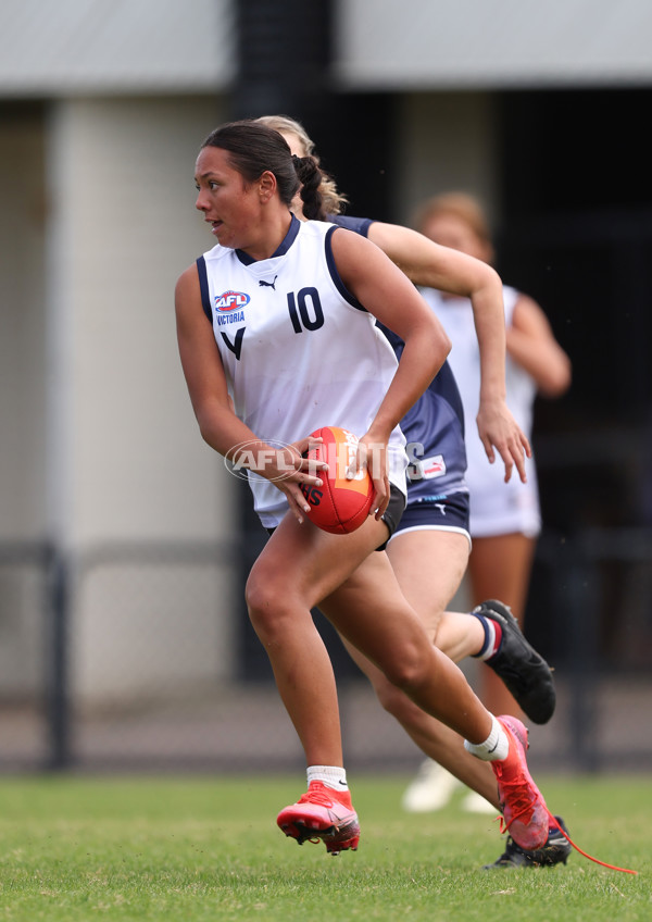
<path id="1" fill-rule="evenodd" d="M 337 274 L 326 222 L 292 219 L 266 260 L 217 245 L 198 260 L 202 302 L 211 316 L 236 414 L 258 438 L 297 441 L 321 426 L 364 435 L 397 370 L 375 317 Z M 397 427 L 390 481 L 403 493 L 408 457 Z M 287 512 L 285 495 L 250 473 L 254 509 L 265 527 Z"/>

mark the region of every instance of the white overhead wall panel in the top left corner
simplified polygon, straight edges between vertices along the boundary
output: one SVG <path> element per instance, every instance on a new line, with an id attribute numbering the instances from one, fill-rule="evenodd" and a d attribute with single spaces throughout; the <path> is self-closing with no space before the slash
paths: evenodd
<path id="1" fill-rule="evenodd" d="M 224 89 L 233 29 L 230 0 L 2 0 L 0 97 Z"/>

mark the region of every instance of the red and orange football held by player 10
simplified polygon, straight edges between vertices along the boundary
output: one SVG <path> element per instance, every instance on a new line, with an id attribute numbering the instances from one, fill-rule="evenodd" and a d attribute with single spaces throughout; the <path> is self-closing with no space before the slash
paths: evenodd
<path id="1" fill-rule="evenodd" d="M 366 470 L 347 479 L 347 468 L 358 451 L 358 436 L 338 426 L 323 426 L 312 435 L 324 441 L 308 457 L 325 460 L 328 471 L 318 472 L 323 486 L 303 490 L 310 503 L 310 521 L 334 535 L 354 532 L 367 518 L 374 498 L 374 484 Z"/>

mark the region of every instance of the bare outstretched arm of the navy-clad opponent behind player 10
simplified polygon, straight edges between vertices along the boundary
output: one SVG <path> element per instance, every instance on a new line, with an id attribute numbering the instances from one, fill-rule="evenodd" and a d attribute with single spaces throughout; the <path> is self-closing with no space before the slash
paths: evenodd
<path id="1" fill-rule="evenodd" d="M 415 285 L 471 299 L 480 352 L 478 434 L 490 463 L 496 460 L 494 449 L 501 456 L 505 481 L 514 465 L 525 481 L 525 457 L 531 457 L 531 448 L 505 403 L 505 317 L 500 276 L 481 260 L 435 244 L 409 227 L 374 222 L 368 237 Z"/>

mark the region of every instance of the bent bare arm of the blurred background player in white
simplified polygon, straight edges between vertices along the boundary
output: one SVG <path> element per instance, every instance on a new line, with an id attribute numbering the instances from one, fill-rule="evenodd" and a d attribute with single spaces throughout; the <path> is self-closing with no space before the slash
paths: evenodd
<path id="1" fill-rule="evenodd" d="M 544 397 L 561 397 L 570 386 L 570 360 L 554 338 L 548 317 L 521 295 L 506 331 L 507 352 L 537 383 Z"/>

